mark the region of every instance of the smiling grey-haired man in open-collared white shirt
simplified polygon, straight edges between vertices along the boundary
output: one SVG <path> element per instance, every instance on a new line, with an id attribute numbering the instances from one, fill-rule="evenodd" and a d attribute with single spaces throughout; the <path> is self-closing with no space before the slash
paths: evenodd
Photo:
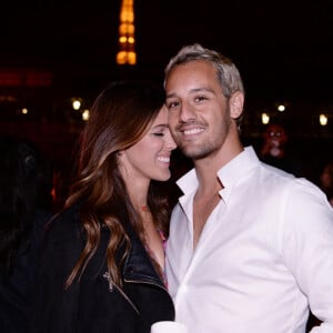
<path id="1" fill-rule="evenodd" d="M 260 162 L 239 133 L 235 65 L 199 44 L 165 69 L 174 141 L 194 169 L 178 184 L 167 274 L 191 333 L 301 333 L 309 306 L 333 332 L 333 210 L 304 179 Z"/>

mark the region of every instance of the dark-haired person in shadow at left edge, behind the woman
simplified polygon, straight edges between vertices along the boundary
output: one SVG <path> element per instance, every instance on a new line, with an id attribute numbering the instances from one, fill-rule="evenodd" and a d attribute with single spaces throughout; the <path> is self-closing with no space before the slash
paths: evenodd
<path id="1" fill-rule="evenodd" d="M 0 332 L 27 332 L 52 169 L 31 142 L 0 138 Z"/>

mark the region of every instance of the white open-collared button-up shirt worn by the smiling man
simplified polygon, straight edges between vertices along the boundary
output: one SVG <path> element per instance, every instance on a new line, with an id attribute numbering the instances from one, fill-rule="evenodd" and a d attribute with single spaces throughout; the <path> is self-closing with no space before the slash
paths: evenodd
<path id="1" fill-rule="evenodd" d="M 333 332 L 333 210 L 305 179 L 249 147 L 219 172 L 222 200 L 193 251 L 195 171 L 178 181 L 167 245 L 176 321 L 191 333 Z"/>

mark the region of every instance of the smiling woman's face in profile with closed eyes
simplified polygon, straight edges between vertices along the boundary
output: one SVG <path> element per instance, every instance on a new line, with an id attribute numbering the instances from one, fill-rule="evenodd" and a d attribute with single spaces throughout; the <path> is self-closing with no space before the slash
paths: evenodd
<path id="1" fill-rule="evenodd" d="M 140 180 L 167 181 L 171 151 L 176 148 L 168 127 L 168 110 L 163 107 L 144 137 L 131 148 L 121 151 L 123 179 L 130 183 Z"/>

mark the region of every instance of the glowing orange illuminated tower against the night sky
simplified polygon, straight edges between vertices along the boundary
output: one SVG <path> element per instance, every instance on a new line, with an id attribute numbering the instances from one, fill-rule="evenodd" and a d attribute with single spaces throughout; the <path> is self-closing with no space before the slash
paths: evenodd
<path id="1" fill-rule="evenodd" d="M 135 38 L 134 38 L 134 0 L 122 0 L 119 23 L 119 52 L 118 64 L 135 64 Z"/>

